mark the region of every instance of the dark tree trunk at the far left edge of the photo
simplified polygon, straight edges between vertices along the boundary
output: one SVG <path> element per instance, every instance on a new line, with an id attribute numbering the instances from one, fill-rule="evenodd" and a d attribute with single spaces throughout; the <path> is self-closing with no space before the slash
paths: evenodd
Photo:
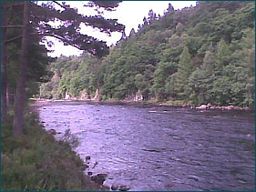
<path id="1" fill-rule="evenodd" d="M 1 2 L 1 25 L 7 25 L 7 9 Z M 1 122 L 7 121 L 6 82 L 7 82 L 7 35 L 6 28 L 1 28 Z"/>

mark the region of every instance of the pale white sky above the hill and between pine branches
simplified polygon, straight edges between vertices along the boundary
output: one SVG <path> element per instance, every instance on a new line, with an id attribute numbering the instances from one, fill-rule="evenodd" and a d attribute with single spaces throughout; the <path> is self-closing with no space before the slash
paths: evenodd
<path id="1" fill-rule="evenodd" d="M 104 12 L 105 18 L 116 18 L 118 23 L 126 25 L 126 35 L 132 28 L 138 31 L 138 25 L 143 23 L 143 18 L 148 18 L 148 12 L 150 9 L 157 15 L 163 15 L 164 11 L 169 7 L 169 3 L 174 7 L 175 10 L 182 9 L 183 7 L 196 5 L 196 1 L 123 1 L 121 2 L 116 11 Z M 71 7 L 77 7 L 78 13 L 83 15 L 97 15 L 97 12 L 93 11 L 92 8 L 84 7 L 81 2 L 70 1 L 67 2 Z M 81 33 L 91 35 L 99 40 L 107 42 L 107 45 L 116 45 L 118 40 L 121 38 L 121 33 L 115 32 L 111 36 L 100 33 L 97 29 L 81 25 Z M 63 43 L 55 40 L 54 37 L 47 37 L 48 40 L 53 41 L 54 45 L 49 48 L 54 50 L 52 53 L 48 53 L 48 56 L 79 56 L 83 51 L 71 45 L 63 45 Z"/>

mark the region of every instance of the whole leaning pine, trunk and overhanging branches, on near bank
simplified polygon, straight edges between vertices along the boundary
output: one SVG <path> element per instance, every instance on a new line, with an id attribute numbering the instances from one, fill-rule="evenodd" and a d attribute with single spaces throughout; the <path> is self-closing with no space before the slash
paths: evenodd
<path id="1" fill-rule="evenodd" d="M 20 136 L 25 129 L 24 110 L 26 103 L 26 73 L 28 61 L 28 45 L 29 45 L 29 31 L 36 28 L 36 34 L 43 36 L 50 35 L 61 40 L 65 44 L 76 46 L 81 50 L 96 56 L 105 56 L 108 54 L 108 46 L 106 42 L 98 41 L 96 38 L 79 33 L 80 23 L 97 27 L 101 32 L 110 35 L 113 31 L 122 32 L 123 25 L 119 25 L 116 19 L 105 19 L 101 15 L 97 16 L 84 16 L 77 14 L 77 10 L 70 8 L 69 5 L 54 2 L 59 5 L 63 11 L 56 10 L 55 6 L 51 3 L 36 5 L 31 2 L 23 2 L 23 35 L 21 47 L 21 65 L 20 74 L 15 96 L 15 118 L 13 123 L 13 136 Z M 119 2 L 92 2 L 91 5 L 104 7 L 108 9 L 118 6 Z M 53 20 L 61 21 L 61 26 L 55 28 L 47 24 Z"/>

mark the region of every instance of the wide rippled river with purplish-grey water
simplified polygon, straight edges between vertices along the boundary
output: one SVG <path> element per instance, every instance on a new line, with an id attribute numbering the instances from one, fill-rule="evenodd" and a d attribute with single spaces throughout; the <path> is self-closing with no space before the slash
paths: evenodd
<path id="1" fill-rule="evenodd" d="M 255 190 L 254 112 L 55 102 L 39 115 L 56 137 L 77 136 L 86 171 L 108 174 L 108 186 Z"/>

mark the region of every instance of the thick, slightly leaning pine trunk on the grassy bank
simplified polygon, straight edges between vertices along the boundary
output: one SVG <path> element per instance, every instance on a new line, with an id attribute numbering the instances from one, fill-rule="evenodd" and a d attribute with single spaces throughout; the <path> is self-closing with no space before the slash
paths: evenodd
<path id="1" fill-rule="evenodd" d="M 15 119 L 13 123 L 13 136 L 20 136 L 25 129 L 25 105 L 26 105 L 26 71 L 27 71 L 27 54 L 28 54 L 28 38 L 29 38 L 29 2 L 24 1 L 24 15 L 23 15 L 23 38 L 21 46 L 21 65 L 20 74 L 16 87 L 15 96 Z"/>

